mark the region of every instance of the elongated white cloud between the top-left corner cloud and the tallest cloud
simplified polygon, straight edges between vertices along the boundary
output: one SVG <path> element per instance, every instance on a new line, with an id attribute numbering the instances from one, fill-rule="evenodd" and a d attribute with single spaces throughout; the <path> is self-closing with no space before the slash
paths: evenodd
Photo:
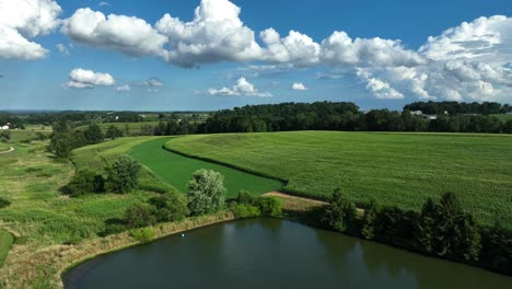
<path id="1" fill-rule="evenodd" d="M 120 51 L 129 56 L 165 57 L 167 38 L 144 20 L 135 16 L 79 9 L 63 21 L 62 33 L 75 43 Z"/>

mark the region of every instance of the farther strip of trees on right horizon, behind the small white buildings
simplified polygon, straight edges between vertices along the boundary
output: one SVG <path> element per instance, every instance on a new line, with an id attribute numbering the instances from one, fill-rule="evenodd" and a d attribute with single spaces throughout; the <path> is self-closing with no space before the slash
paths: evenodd
<path id="1" fill-rule="evenodd" d="M 455 114 L 507 114 L 512 112 L 512 106 L 509 104 L 500 104 L 496 102 L 484 103 L 465 103 L 465 102 L 415 102 L 404 107 L 409 111 L 421 111 L 423 114 L 440 115 L 447 112 L 450 115 Z"/>

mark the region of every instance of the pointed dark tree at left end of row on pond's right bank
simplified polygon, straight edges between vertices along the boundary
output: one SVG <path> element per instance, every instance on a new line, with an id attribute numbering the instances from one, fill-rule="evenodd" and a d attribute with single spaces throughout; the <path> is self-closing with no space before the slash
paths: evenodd
<path id="1" fill-rule="evenodd" d="M 354 226 L 356 213 L 356 205 L 336 189 L 330 204 L 325 208 L 322 223 L 336 231 L 350 231 Z"/>

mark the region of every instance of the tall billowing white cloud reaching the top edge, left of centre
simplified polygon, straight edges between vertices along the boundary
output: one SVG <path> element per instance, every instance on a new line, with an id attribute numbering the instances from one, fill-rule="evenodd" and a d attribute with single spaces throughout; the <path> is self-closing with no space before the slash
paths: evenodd
<path id="1" fill-rule="evenodd" d="M 172 47 L 165 59 L 182 67 L 257 60 L 261 48 L 240 13 L 241 9 L 228 0 L 201 0 L 190 22 L 165 14 L 155 24 Z"/>

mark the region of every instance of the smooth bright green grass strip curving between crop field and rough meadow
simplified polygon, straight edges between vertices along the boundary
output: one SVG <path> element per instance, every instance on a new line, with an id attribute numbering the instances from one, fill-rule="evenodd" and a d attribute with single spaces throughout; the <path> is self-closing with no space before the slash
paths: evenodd
<path id="1" fill-rule="evenodd" d="M 163 149 L 170 139 L 156 139 L 135 147 L 129 154 L 160 175 L 165 182 L 181 192 L 187 192 L 187 183 L 194 172 L 200 169 L 213 170 L 224 175 L 228 197 L 235 197 L 241 189 L 260 195 L 279 189 L 279 181 L 247 174 L 223 165 L 205 162 Z"/>

